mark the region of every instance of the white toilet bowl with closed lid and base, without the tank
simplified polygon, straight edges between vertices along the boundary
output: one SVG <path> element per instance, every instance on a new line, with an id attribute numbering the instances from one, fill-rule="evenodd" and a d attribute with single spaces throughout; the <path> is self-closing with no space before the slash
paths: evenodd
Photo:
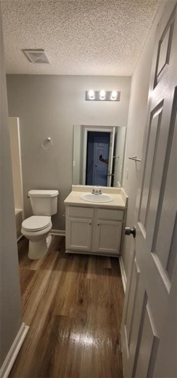
<path id="1" fill-rule="evenodd" d="M 51 228 L 50 216 L 33 215 L 22 222 L 21 233 L 29 239 L 30 259 L 36 260 L 45 256 L 52 240 L 52 236 L 49 235 Z"/>

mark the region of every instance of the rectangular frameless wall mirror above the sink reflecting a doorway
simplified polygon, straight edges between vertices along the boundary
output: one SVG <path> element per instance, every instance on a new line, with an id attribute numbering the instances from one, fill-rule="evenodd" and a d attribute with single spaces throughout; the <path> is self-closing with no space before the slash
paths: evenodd
<path id="1" fill-rule="evenodd" d="M 126 127 L 74 125 L 73 185 L 121 187 Z"/>

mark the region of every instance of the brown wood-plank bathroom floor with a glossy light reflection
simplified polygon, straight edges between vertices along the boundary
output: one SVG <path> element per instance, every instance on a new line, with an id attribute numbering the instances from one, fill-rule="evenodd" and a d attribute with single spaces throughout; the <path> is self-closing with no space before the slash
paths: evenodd
<path id="1" fill-rule="evenodd" d="M 10 377 L 121 378 L 123 287 L 117 258 L 66 254 L 55 236 L 41 260 L 18 243 L 28 335 Z"/>

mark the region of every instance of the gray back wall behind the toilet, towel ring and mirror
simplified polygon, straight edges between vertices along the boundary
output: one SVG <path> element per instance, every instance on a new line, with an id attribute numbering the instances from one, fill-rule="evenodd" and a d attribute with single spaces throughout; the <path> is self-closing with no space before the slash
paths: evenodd
<path id="1" fill-rule="evenodd" d="M 25 217 L 29 189 L 59 189 L 53 228 L 64 229 L 63 200 L 71 190 L 73 125 L 126 126 L 130 77 L 7 75 L 9 116 L 20 119 Z M 118 90 L 120 102 L 86 101 L 85 91 Z M 50 136 L 54 145 L 41 149 Z"/>

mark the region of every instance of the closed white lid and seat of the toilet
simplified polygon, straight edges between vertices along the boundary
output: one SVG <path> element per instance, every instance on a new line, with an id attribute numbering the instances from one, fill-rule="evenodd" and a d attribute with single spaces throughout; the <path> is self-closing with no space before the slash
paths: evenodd
<path id="1" fill-rule="evenodd" d="M 51 217 L 33 215 L 22 222 L 22 227 L 27 231 L 39 231 L 46 228 L 51 221 Z"/>

